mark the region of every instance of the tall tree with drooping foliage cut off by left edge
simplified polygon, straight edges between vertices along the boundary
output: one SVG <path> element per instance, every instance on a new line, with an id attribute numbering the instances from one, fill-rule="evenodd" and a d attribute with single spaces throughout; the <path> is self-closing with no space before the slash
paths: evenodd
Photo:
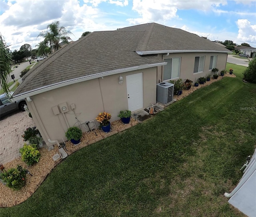
<path id="1" fill-rule="evenodd" d="M 8 88 L 8 77 L 11 70 L 10 63 L 12 61 L 12 55 L 8 49 L 4 37 L 0 34 L 0 83 L 1 88 L 8 95 L 10 94 Z"/>

